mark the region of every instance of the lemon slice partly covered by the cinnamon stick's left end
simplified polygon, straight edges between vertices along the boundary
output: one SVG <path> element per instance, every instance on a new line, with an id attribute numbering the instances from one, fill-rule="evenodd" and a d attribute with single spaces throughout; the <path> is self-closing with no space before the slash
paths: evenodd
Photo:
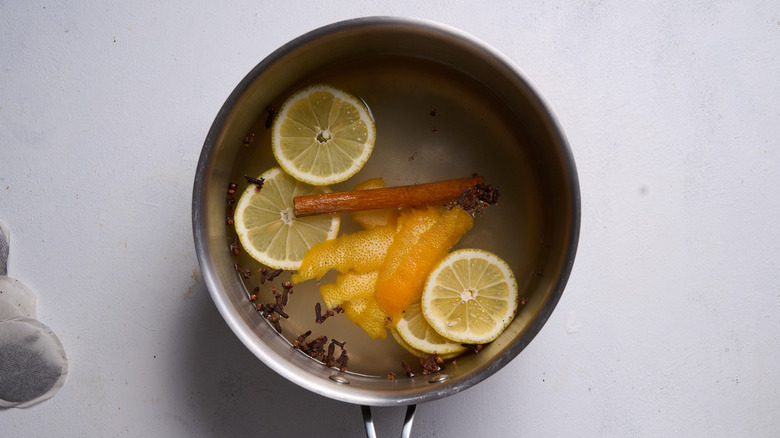
<path id="1" fill-rule="evenodd" d="M 293 198 L 329 192 L 297 181 L 278 167 L 266 171 L 263 188 L 249 187 L 238 200 L 234 213 L 236 233 L 246 252 L 274 269 L 298 269 L 303 255 L 317 243 L 334 239 L 339 231 L 339 215 L 296 218 Z"/>

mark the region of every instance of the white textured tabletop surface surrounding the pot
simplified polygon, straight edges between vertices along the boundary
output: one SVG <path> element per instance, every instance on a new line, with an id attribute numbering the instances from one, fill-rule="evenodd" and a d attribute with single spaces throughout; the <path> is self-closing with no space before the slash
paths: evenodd
<path id="1" fill-rule="evenodd" d="M 229 331 L 190 202 L 239 80 L 364 15 L 433 19 L 508 55 L 558 116 L 582 190 L 548 324 L 488 380 L 421 405 L 414 435 L 780 434 L 777 1 L 321 3 L 0 0 L 9 275 L 70 359 L 54 398 L 0 411 L 0 436 L 363 434 L 359 408 L 288 383 Z M 402 408 L 374 416 L 399 433 Z"/>

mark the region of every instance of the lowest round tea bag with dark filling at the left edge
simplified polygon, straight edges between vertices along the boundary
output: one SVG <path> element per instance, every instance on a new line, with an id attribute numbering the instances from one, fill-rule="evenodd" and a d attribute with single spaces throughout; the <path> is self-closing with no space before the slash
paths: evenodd
<path id="1" fill-rule="evenodd" d="M 65 350 L 49 327 L 29 318 L 0 321 L 0 407 L 47 400 L 67 374 Z"/>

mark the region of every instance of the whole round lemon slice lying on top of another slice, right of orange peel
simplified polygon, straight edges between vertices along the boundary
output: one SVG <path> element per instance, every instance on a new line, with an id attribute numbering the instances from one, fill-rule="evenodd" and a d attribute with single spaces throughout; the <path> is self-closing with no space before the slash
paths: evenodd
<path id="1" fill-rule="evenodd" d="M 422 313 L 437 333 L 455 342 L 496 339 L 517 312 L 517 281 L 509 265 L 480 249 L 461 249 L 433 269 Z"/>

